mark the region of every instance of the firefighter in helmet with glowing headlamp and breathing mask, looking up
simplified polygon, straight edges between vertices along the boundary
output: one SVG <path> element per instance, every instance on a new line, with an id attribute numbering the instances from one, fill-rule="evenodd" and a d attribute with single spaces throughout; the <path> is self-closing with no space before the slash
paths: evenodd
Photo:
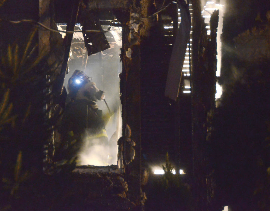
<path id="1" fill-rule="evenodd" d="M 69 93 L 60 128 L 62 141 L 55 157 L 67 160 L 79 158 L 77 165 L 82 165 L 79 154 L 91 153 L 93 147 L 98 145 L 102 151 L 96 159 L 100 165 L 106 165 L 108 136 L 102 110 L 96 104 L 105 95 L 91 80 L 80 70 L 75 70 L 68 80 Z"/>

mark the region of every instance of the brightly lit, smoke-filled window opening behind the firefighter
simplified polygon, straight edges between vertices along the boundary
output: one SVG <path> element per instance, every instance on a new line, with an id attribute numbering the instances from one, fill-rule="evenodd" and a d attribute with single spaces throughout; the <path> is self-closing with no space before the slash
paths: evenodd
<path id="1" fill-rule="evenodd" d="M 58 30 L 66 30 L 66 24 L 58 24 Z M 65 75 L 64 87 L 68 87 L 68 80 L 75 70 L 91 77 L 91 82 L 96 83 L 99 90 L 105 92 L 105 100 L 111 113 L 103 100 L 97 101 L 99 110 L 102 110 L 105 125 L 105 133 L 108 136 L 108 145 L 102 146 L 98 141 L 91 139 L 91 132 L 85 134 L 83 146 L 78 153 L 77 165 L 107 166 L 117 165 L 118 145 L 117 141 L 122 136 L 122 118 L 120 96 L 120 78 L 122 71 L 120 61 L 120 48 L 122 47 L 121 27 L 102 25 L 110 48 L 88 56 L 83 39 L 83 33 L 76 32 L 73 35 L 70 58 L 68 61 L 68 74 Z M 74 30 L 82 30 L 80 24 L 76 24 Z M 61 32 L 60 32 L 61 33 Z M 65 34 L 61 33 L 64 38 Z M 91 43 L 90 43 L 91 45 Z M 68 90 L 67 90 L 68 91 Z M 86 115 L 86 114 L 85 114 Z"/>

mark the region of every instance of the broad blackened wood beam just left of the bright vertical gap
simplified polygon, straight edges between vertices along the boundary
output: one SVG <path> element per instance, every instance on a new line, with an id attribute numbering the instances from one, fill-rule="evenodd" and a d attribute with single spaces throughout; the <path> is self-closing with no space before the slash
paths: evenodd
<path id="1" fill-rule="evenodd" d="M 192 141 L 193 194 L 198 210 L 209 210 L 207 115 L 215 108 L 216 32 L 218 11 L 210 20 L 211 35 L 207 36 L 200 5 L 193 1 L 193 69 L 192 77 Z"/>

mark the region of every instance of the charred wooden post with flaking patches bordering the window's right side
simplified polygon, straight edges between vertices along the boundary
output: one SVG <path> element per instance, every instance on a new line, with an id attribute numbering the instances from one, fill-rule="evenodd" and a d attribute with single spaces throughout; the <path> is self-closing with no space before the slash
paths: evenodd
<path id="1" fill-rule="evenodd" d="M 136 12 L 130 11 L 130 25 L 134 21 L 133 15 Z M 140 35 L 132 27 L 122 29 L 123 48 L 121 52 L 123 70 L 121 73 L 120 91 L 123 118 L 123 162 L 126 180 L 133 196 L 140 196 L 141 193 L 141 114 L 140 114 Z M 130 162 L 131 146 L 125 140 L 126 125 L 130 127 L 131 137 L 136 145 L 134 160 Z M 136 199 L 133 199 L 136 200 Z"/>

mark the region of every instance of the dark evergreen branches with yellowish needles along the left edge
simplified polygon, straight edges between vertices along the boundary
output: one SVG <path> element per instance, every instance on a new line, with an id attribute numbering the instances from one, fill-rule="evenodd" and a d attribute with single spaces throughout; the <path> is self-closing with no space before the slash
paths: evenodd
<path id="1" fill-rule="evenodd" d="M 1 209 L 16 209 L 33 193 L 41 193 L 43 147 L 57 119 L 57 114 L 49 114 L 49 87 L 58 65 L 48 64 L 48 54 L 38 49 L 36 32 L 25 43 L 15 42 L 0 52 Z"/>

